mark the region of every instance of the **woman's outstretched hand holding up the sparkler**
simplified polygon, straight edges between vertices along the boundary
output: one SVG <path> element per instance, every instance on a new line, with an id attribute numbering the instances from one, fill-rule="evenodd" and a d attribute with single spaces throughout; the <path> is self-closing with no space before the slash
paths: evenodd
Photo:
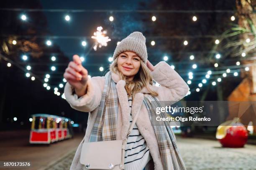
<path id="1" fill-rule="evenodd" d="M 88 71 L 82 66 L 82 61 L 78 55 L 73 55 L 73 61 L 69 62 L 63 76 L 74 87 L 78 96 L 85 94 Z"/>

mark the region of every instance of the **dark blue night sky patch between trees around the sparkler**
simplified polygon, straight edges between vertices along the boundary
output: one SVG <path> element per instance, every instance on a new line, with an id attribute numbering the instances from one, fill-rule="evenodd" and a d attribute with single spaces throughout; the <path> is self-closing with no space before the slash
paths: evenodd
<path id="1" fill-rule="evenodd" d="M 145 1 L 145 0 L 144 0 Z M 104 10 L 133 10 L 137 9 L 139 2 L 143 0 L 129 0 L 129 1 L 45 1 L 41 0 L 42 7 L 44 9 L 104 9 Z M 150 2 L 150 1 L 147 1 Z M 61 50 L 69 58 L 74 54 L 82 56 L 85 54 L 93 44 L 91 38 L 85 39 L 87 46 L 83 47 L 81 41 L 84 40 L 83 36 L 92 36 L 98 26 L 102 26 L 103 29 L 108 30 L 107 36 L 111 41 L 108 42 L 108 47 L 102 47 L 97 52 L 108 53 L 107 55 L 99 56 L 102 60 L 108 60 L 116 47 L 118 40 L 122 40 L 131 32 L 138 30 L 143 31 L 143 26 L 140 21 L 134 20 L 136 13 L 127 15 L 127 13 L 118 13 L 114 16 L 114 22 L 109 21 L 110 13 L 69 13 L 70 21 L 64 20 L 66 13 L 63 12 L 44 12 L 48 21 L 48 28 L 52 35 L 56 36 L 80 36 L 81 39 L 55 39 L 54 43 L 59 45 Z M 131 14 L 131 13 L 129 13 Z M 120 20 L 122 22 L 120 22 Z M 145 28 L 144 28 L 145 29 Z M 105 48 L 105 49 L 104 49 Z M 92 50 L 91 53 L 94 53 Z M 95 63 L 96 60 L 91 61 L 92 55 L 86 57 L 86 61 Z M 98 60 L 99 61 L 99 60 Z M 101 61 L 100 61 L 101 62 Z M 102 63 L 102 62 L 101 62 Z M 108 63 L 108 62 L 106 62 Z M 106 66 L 106 65 L 105 65 Z"/>

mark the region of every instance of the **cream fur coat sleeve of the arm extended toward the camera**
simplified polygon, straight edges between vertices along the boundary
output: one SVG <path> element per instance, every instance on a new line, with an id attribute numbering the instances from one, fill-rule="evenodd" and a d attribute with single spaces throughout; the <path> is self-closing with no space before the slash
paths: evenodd
<path id="1" fill-rule="evenodd" d="M 67 82 L 64 88 L 65 98 L 73 109 L 82 112 L 91 112 L 100 105 L 104 82 L 104 77 L 89 78 L 87 81 L 87 93 L 79 98 L 74 93 L 74 87 Z"/>

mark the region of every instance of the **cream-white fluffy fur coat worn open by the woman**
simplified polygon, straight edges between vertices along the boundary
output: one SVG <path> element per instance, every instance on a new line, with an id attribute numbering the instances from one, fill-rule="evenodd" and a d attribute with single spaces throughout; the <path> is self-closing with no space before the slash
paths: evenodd
<path id="1" fill-rule="evenodd" d="M 152 90 L 158 92 L 158 99 L 160 101 L 179 101 L 187 94 L 189 90 L 187 83 L 184 82 L 182 77 L 180 77 L 180 75 L 164 61 L 159 62 L 155 66 L 155 69 L 153 72 L 151 72 L 151 75 L 153 79 L 161 85 L 159 87 L 150 86 Z M 116 138 L 117 140 L 124 140 L 129 128 L 130 116 L 128 96 L 125 90 L 125 81 L 120 80 L 118 75 L 114 73 L 112 73 L 111 76 L 114 82 L 117 83 L 116 88 L 119 99 L 118 114 L 121 115 L 118 116 Z M 97 115 L 96 108 L 100 105 L 101 95 L 105 84 L 105 77 L 92 77 L 91 79 L 88 79 L 87 83 L 87 94 L 79 98 L 76 94 L 72 95 L 73 87 L 68 82 L 64 88 L 66 100 L 69 102 L 72 108 L 82 112 L 89 112 L 84 142 L 88 142 L 90 138 L 92 127 Z M 141 135 L 146 140 L 150 154 L 154 161 L 154 170 L 163 170 L 156 135 L 151 125 L 147 109 L 144 105 L 142 105 L 144 93 L 149 93 L 145 87 L 143 87 L 143 89 L 135 95 L 132 105 L 132 117 L 134 117 L 134 115 L 138 112 L 138 109 L 141 108 L 136 125 L 138 126 L 138 130 L 140 131 Z M 77 152 L 74 156 L 70 170 L 82 170 L 82 164 L 80 164 L 79 161 L 81 149 L 82 142 L 77 148 Z M 150 169 L 153 169 L 153 167 Z"/>

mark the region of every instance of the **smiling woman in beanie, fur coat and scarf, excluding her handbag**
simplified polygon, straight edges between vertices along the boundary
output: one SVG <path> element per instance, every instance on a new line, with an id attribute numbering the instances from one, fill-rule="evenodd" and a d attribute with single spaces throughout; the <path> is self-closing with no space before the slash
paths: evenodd
<path id="1" fill-rule="evenodd" d="M 88 72 L 81 65 L 79 56 L 74 55 L 73 61 L 64 73 L 67 80 L 64 94 L 72 108 L 89 112 L 83 142 L 124 140 L 134 115 L 139 111 L 136 125 L 125 149 L 125 170 L 184 170 L 173 132 L 170 134 L 166 129 L 161 130 L 169 127 L 161 127 L 160 131 L 157 131 L 159 129 L 152 126 L 149 117 L 152 113 L 144 97 L 151 96 L 150 99 L 157 98 L 160 101 L 179 101 L 187 94 L 189 88 L 182 77 L 166 62 L 159 62 L 153 66 L 147 58 L 146 38 L 141 32 L 131 33 L 117 45 L 110 72 L 105 77 L 88 78 Z M 161 86 L 153 86 L 152 79 Z M 111 84 L 106 83 L 107 81 Z M 112 95 L 108 93 L 107 96 L 107 100 L 110 101 L 107 103 L 111 106 L 104 105 L 103 108 L 110 109 L 98 109 L 102 107 L 102 100 L 105 99 L 102 94 L 105 94 L 106 88 L 112 92 Z M 105 127 L 110 128 L 111 132 L 115 132 L 114 135 L 104 134 L 107 130 L 102 130 L 101 135 L 94 133 L 99 129 L 97 125 L 101 123 L 97 121 L 102 120 L 103 124 L 109 122 L 110 116 L 103 119 L 98 117 L 99 110 L 105 110 L 103 115 L 116 112 L 113 116 L 114 126 L 106 123 L 101 127 L 101 130 Z M 167 133 L 168 138 L 163 140 L 162 136 L 159 137 L 160 133 L 164 133 L 163 136 Z M 71 170 L 82 169 L 79 158 L 83 142 L 77 149 Z"/>

